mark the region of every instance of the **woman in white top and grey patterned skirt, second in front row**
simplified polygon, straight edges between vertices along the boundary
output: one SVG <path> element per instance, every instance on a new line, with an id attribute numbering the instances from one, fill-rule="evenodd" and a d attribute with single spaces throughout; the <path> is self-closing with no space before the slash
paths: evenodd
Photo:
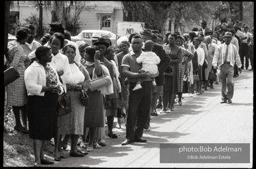
<path id="1" fill-rule="evenodd" d="M 84 106 L 82 104 L 82 90 L 87 91 L 90 86 L 90 76 L 88 71 L 81 63 L 74 61 L 76 57 L 76 47 L 67 45 L 63 48 L 62 53 L 68 57 L 70 65 L 70 76 L 72 81 L 66 83 L 67 94 L 71 98 L 70 114 L 60 116 L 60 138 L 62 135 L 67 137 L 71 135 L 70 156 L 82 157 L 85 153 L 79 151 L 77 148 L 79 135 L 84 134 Z M 64 139 L 63 145 L 67 145 L 68 139 Z M 61 144 L 59 143 L 59 149 Z"/>

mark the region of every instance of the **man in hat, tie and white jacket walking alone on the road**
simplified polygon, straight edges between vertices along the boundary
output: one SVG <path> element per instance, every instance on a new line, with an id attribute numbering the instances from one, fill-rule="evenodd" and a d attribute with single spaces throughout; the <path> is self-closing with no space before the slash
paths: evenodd
<path id="1" fill-rule="evenodd" d="M 238 71 L 241 73 L 241 61 L 237 48 L 233 44 L 230 44 L 232 38 L 231 32 L 225 32 L 224 37 L 225 43 L 218 46 L 216 49 L 212 65 L 214 66 L 214 73 L 217 71 L 217 64 L 220 65 L 220 81 L 222 83 L 223 100 L 221 103 L 232 103 L 234 92 L 233 67 L 236 62 Z"/>

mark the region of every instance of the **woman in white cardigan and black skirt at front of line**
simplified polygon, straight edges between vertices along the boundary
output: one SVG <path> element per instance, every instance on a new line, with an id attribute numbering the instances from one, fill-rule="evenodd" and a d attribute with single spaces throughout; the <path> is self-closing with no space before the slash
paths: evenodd
<path id="1" fill-rule="evenodd" d="M 44 140 L 54 136 L 58 94 L 63 92 L 56 70 L 48 64 L 52 52 L 46 46 L 35 51 L 36 59 L 25 71 L 28 92 L 29 137 L 33 139 L 34 166 L 53 164 L 44 158 Z"/>

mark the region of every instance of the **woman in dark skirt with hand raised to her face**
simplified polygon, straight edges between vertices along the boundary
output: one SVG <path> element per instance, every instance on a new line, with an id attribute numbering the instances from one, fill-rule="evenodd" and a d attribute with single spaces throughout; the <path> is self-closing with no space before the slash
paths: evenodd
<path id="1" fill-rule="evenodd" d="M 105 66 L 99 61 L 99 53 L 100 52 L 96 51 L 92 46 L 86 47 L 86 63 L 84 64 L 84 67 L 86 67 L 91 79 L 93 79 L 93 72 L 96 73 L 97 77 L 101 77 L 103 75 L 102 67 Z M 105 69 L 107 68 L 105 67 Z M 96 130 L 97 127 L 104 127 L 105 123 L 105 116 L 103 114 L 103 94 L 101 94 L 99 90 L 88 90 L 87 94 L 89 96 L 90 103 L 93 104 L 86 106 L 84 111 L 84 134 L 82 135 L 81 145 L 86 143 L 86 137 L 89 133 L 87 150 L 93 151 L 94 148 L 101 148 L 101 146 L 96 142 Z"/>

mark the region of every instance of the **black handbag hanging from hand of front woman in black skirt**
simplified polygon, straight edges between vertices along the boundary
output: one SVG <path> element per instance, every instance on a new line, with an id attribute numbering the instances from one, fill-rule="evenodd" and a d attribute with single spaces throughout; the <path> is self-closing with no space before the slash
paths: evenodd
<path id="1" fill-rule="evenodd" d="M 64 87 L 62 86 L 63 90 Z M 58 97 L 58 112 L 57 112 L 57 116 L 64 116 L 67 114 L 70 114 L 72 112 L 71 110 L 71 100 L 70 100 L 70 96 L 68 96 L 68 94 L 66 94 L 65 90 L 64 93 L 61 94 Z"/>

